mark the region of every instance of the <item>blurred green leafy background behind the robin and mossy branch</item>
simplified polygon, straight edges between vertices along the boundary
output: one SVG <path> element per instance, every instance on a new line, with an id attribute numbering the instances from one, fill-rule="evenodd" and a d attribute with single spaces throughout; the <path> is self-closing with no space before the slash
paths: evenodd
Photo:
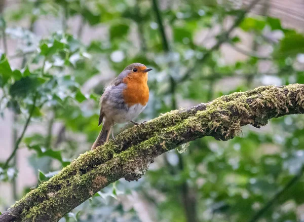
<path id="1" fill-rule="evenodd" d="M 154 68 L 139 121 L 304 84 L 304 6 L 284 3 L 249 13 L 243 1 L 0 1 L 0 210 L 90 148 L 103 86 L 132 62 Z M 304 221 L 303 129 L 302 115 L 288 116 L 191 142 L 62 221 Z"/>

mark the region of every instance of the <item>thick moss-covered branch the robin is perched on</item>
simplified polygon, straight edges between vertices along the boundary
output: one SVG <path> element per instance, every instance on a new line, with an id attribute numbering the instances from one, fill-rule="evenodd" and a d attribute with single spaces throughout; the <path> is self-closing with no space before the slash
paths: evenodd
<path id="1" fill-rule="evenodd" d="M 259 128 L 269 119 L 304 112 L 304 85 L 263 86 L 206 104 L 173 110 L 88 151 L 0 215 L 0 221 L 58 221 L 108 184 L 139 179 L 157 156 L 213 136 L 232 139 L 241 127 Z M 88 147 L 89 149 L 89 147 Z"/>

